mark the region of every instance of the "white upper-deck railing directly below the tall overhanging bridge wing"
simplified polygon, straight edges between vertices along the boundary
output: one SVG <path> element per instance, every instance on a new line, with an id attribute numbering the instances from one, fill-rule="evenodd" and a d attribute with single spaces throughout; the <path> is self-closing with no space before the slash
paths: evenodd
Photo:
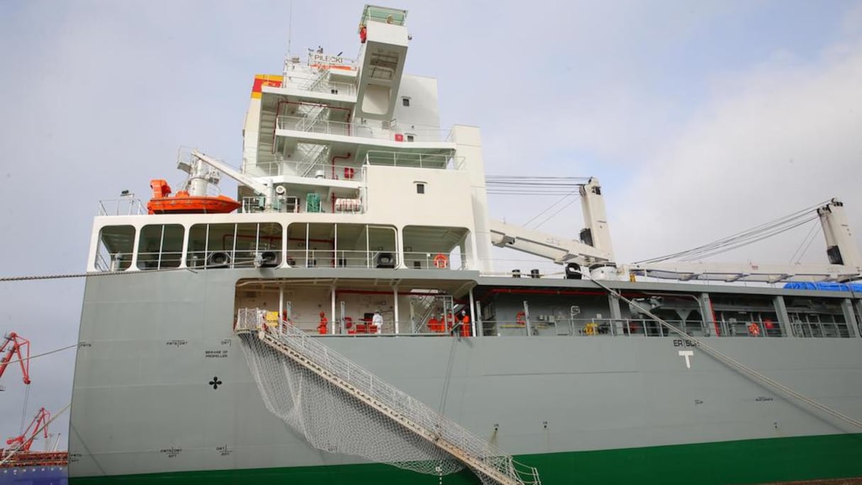
<path id="1" fill-rule="evenodd" d="M 393 126 L 383 128 L 367 123 L 309 120 L 307 117 L 287 116 L 276 118 L 276 128 L 326 135 L 359 136 L 393 142 L 445 142 L 449 136 L 447 129 L 402 129 Z"/>

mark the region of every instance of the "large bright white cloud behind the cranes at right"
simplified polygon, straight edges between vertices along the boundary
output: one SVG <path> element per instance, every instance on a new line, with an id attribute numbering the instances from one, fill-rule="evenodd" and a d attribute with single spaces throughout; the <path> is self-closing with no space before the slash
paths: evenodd
<path id="1" fill-rule="evenodd" d="M 715 79 L 709 104 L 647 155 L 612 205 L 617 254 L 688 249 L 831 197 L 845 201 L 851 227 L 862 230 L 859 85 L 862 43 L 828 47 L 810 61 L 777 52 Z M 798 244 L 734 255 L 785 262 Z M 826 261 L 815 250 L 808 259 Z"/>

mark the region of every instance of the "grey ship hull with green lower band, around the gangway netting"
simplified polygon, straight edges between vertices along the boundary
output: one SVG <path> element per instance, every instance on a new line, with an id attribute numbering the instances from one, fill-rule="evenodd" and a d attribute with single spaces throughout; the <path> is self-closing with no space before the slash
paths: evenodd
<path id="1" fill-rule="evenodd" d="M 72 397 L 72 483 L 439 483 L 315 450 L 266 410 L 232 328 L 237 281 L 259 276 L 209 270 L 88 279 Z M 855 335 L 703 341 L 858 417 L 862 339 Z M 538 468 L 545 484 L 862 476 L 858 430 L 699 349 L 684 359 L 672 337 L 322 338 Z M 461 472 L 443 482 L 476 479 Z"/>

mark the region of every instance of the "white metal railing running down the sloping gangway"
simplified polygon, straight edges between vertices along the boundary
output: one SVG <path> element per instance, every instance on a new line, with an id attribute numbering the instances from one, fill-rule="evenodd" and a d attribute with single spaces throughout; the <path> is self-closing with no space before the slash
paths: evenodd
<path id="1" fill-rule="evenodd" d="M 282 320 L 279 322 L 278 330 L 266 331 L 268 327 L 263 315 L 265 312 L 258 308 L 240 309 L 237 313 L 236 330 L 261 331 L 260 335 L 264 342 L 277 349 L 282 345 L 294 350 L 331 375 L 347 382 L 359 393 L 370 397 L 375 404 L 381 405 L 379 407 L 394 410 L 411 424 L 425 431 L 425 434 L 436 437 L 435 443 L 452 444 L 457 450 L 463 451 L 467 457 L 472 458 L 465 462 L 466 464 L 473 465 L 474 463 L 471 462 L 475 460 L 476 463 L 493 469 L 499 475 L 508 477 L 514 483 L 540 483 L 536 469 L 515 462 L 503 450 L 497 449 L 452 419 L 437 413 L 420 400 L 397 389 L 365 368 L 359 367 L 356 362 L 317 342 L 292 324 Z"/>

